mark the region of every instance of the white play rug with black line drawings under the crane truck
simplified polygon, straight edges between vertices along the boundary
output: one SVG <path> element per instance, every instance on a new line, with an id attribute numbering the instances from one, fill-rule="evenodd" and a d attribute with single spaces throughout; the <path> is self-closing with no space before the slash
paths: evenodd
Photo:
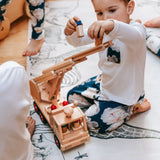
<path id="1" fill-rule="evenodd" d="M 139 0 L 137 1 L 136 9 L 138 13 L 134 13 L 133 16 L 135 18 L 140 18 L 139 16 L 141 16 L 142 20 L 147 20 L 145 17 L 148 15 L 148 19 L 150 19 L 158 15 L 157 4 L 159 5 L 159 2 L 155 0 L 147 1 L 147 3 L 145 0 Z M 152 16 L 147 12 L 144 15 L 146 8 L 150 8 L 150 12 L 154 10 Z M 92 45 L 89 45 L 74 48 L 66 42 L 64 27 L 67 20 L 75 15 L 81 18 L 84 27 L 87 27 L 96 20 L 90 0 L 53 1 L 46 3 L 45 42 L 38 55 L 28 58 L 27 70 L 30 78 L 40 76 L 44 69 L 63 61 L 68 56 L 92 47 Z M 87 61 L 76 65 L 72 71 L 66 73 L 61 85 L 61 94 L 64 98 L 67 91 L 74 85 L 99 73 L 97 62 L 98 55 L 91 55 Z M 155 55 L 149 51 L 147 52 L 146 70 L 151 74 L 150 76 L 148 74 L 146 76 L 146 96 L 150 100 L 152 107 L 157 108 L 157 111 L 157 104 L 160 103 L 157 100 L 157 95 L 160 95 L 159 90 L 157 90 L 159 76 L 154 85 L 151 84 L 150 79 L 151 76 L 154 77 L 156 74 L 154 72 L 155 68 L 151 67 L 152 64 L 154 63 L 155 67 L 158 68 L 160 67 L 159 62 L 159 59 Z M 36 119 L 36 130 L 32 139 L 34 160 L 120 160 L 122 158 L 123 160 L 159 160 L 160 127 L 156 122 L 160 121 L 160 113 L 155 110 L 152 109 L 149 112 L 135 116 L 113 132 L 106 134 L 90 132 L 90 142 L 62 152 L 55 144 L 53 131 L 48 125 L 44 125 L 41 122 L 32 107 L 30 115 Z M 157 118 L 155 118 L 155 115 Z"/>

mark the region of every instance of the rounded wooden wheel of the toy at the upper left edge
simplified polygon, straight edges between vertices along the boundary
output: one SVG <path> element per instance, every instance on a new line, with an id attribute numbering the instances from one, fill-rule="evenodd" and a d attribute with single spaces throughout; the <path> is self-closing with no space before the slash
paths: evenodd
<path id="1" fill-rule="evenodd" d="M 8 18 L 4 18 L 4 21 L 2 22 L 2 28 L 0 28 L 0 40 L 7 37 L 8 33 L 10 31 L 10 22 Z"/>

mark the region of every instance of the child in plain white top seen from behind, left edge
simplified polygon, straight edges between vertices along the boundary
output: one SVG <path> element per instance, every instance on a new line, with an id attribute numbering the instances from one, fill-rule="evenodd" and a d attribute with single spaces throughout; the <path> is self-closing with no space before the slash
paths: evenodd
<path id="1" fill-rule="evenodd" d="M 31 137 L 35 120 L 32 117 L 27 118 L 30 100 L 29 83 L 24 68 L 13 61 L 0 65 L 1 160 L 33 159 Z"/>

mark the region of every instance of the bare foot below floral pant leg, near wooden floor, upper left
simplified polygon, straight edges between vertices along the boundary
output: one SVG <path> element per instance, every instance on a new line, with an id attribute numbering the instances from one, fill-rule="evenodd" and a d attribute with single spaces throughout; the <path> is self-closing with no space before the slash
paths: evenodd
<path id="1" fill-rule="evenodd" d="M 23 52 L 23 56 L 33 56 L 36 55 L 42 47 L 44 42 L 44 38 L 40 40 L 31 39 L 30 43 L 28 44 L 26 50 Z"/>

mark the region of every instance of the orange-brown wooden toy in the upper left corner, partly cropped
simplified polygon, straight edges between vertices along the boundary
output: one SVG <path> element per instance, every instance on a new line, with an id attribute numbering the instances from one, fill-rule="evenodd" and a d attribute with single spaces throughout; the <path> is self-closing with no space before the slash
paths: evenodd
<path id="1" fill-rule="evenodd" d="M 4 39 L 8 35 L 10 31 L 10 24 L 25 14 L 30 17 L 28 5 L 25 0 L 12 0 L 7 6 L 4 21 L 2 22 L 0 40 Z"/>

